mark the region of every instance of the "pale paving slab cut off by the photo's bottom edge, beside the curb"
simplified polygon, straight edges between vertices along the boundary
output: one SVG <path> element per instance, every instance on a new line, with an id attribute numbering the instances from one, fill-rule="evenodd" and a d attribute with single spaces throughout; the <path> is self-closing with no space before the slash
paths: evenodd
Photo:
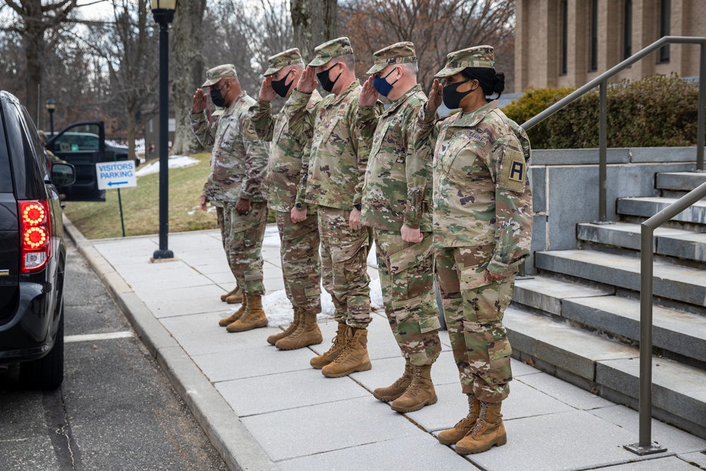
<path id="1" fill-rule="evenodd" d="M 429 438 L 413 436 L 280 461 L 282 471 L 473 470 L 464 457 Z M 436 440 L 435 440 L 436 441 Z"/>

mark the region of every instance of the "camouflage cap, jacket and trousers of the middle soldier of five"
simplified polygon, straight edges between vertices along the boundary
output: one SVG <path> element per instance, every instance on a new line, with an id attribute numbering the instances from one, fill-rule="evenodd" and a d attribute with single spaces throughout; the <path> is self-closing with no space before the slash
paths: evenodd
<path id="1" fill-rule="evenodd" d="M 316 48 L 309 66 L 321 66 L 352 53 L 347 38 L 325 42 Z M 311 153 L 305 152 L 301 159 L 302 178 L 295 204 L 298 208 L 307 203 L 318 205 L 323 286 L 333 298 L 336 320 L 354 328 L 366 328 L 371 321 L 366 263 L 369 232 L 366 227 L 350 229 L 348 225 L 353 206 L 361 201 L 368 161 L 366 149 L 359 147 L 355 126 L 360 90 L 359 81 L 354 81 L 313 107 L 309 106 L 312 95 L 294 90 L 289 97 L 290 126 L 313 126 Z"/>

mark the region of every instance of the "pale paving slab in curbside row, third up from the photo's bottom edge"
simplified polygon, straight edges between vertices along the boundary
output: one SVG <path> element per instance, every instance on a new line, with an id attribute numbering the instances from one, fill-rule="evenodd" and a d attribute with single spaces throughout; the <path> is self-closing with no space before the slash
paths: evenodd
<path id="1" fill-rule="evenodd" d="M 321 370 L 313 368 L 223 381 L 216 384 L 216 389 L 239 417 L 370 397 L 350 378 L 326 378 Z"/>

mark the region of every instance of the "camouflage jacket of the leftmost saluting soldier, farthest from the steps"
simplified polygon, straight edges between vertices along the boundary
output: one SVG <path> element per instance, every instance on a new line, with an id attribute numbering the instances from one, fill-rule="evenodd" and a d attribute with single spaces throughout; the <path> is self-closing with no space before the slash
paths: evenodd
<path id="1" fill-rule="evenodd" d="M 190 114 L 198 141 L 213 145 L 211 173 L 201 193 L 208 201 L 265 201 L 261 186 L 268 145 L 258 139 L 248 116 L 253 105 L 255 100 L 243 93 L 213 124 L 204 112 Z"/>

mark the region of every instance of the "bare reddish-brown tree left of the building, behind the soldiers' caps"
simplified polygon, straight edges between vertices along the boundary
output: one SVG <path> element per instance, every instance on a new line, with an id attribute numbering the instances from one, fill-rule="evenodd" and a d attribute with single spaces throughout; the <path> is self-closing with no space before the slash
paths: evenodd
<path id="1" fill-rule="evenodd" d="M 340 13 L 343 28 L 357 32 L 350 39 L 360 73 L 373 52 L 398 41 L 414 42 L 426 88 L 448 52 L 480 44 L 496 48 L 498 71 L 512 72 L 513 0 L 352 0 Z"/>

